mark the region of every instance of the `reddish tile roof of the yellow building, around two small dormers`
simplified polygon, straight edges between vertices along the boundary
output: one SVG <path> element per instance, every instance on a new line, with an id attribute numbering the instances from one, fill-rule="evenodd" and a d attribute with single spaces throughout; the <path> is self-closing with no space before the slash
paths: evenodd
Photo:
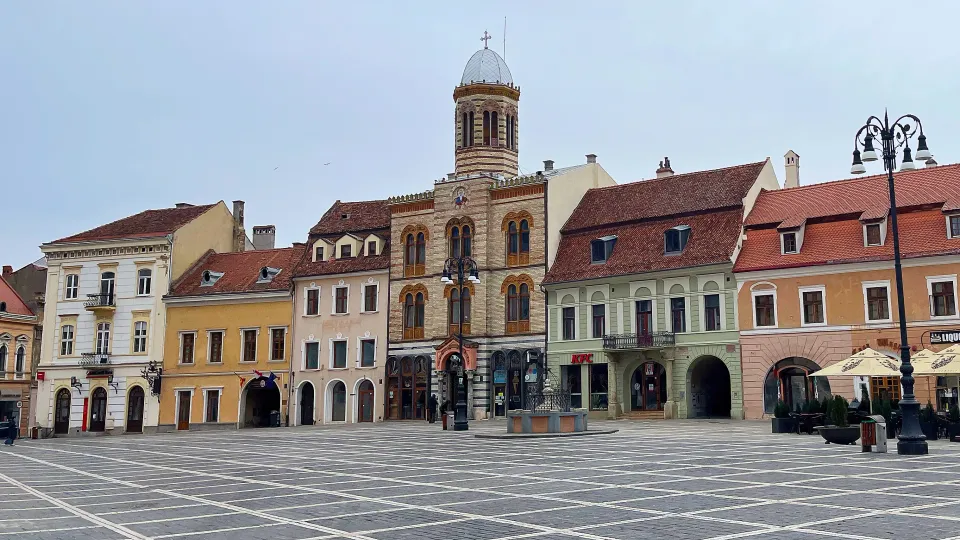
<path id="1" fill-rule="evenodd" d="M 283 291 L 290 289 L 293 270 L 304 254 L 304 246 L 289 248 L 214 253 L 208 251 L 171 287 L 168 296 L 198 296 L 222 293 Z M 269 283 L 257 283 L 260 269 L 280 269 Z M 223 272 L 223 277 L 209 287 L 200 285 L 203 272 Z"/>

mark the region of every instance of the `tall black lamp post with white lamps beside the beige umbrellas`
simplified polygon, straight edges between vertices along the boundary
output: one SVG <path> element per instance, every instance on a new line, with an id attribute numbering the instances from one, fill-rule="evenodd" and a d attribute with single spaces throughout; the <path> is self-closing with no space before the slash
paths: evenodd
<path id="1" fill-rule="evenodd" d="M 897 313 L 900 317 L 900 382 L 903 385 L 903 397 L 900 400 L 900 414 L 903 418 L 897 453 L 904 455 L 923 455 L 927 453 L 927 441 L 920 430 L 920 402 L 913 394 L 913 365 L 910 363 L 910 346 L 907 344 L 907 317 L 903 302 L 903 272 L 900 268 L 900 233 L 897 229 L 897 195 L 893 184 L 893 170 L 897 167 L 897 150 L 903 147 L 903 158 L 900 160 L 901 171 L 912 171 L 917 168 L 913 162 L 913 151 L 910 149 L 910 139 L 917 137 L 916 158 L 924 161 L 931 159 L 930 149 L 927 148 L 927 137 L 923 134 L 920 119 L 912 114 L 906 114 L 890 122 L 886 111 L 883 120 L 871 116 L 857 131 L 853 141 L 852 174 L 867 172 L 863 162 L 877 161 L 877 151 L 873 147 L 877 137 L 882 144 L 883 167 L 887 170 L 887 187 L 890 190 L 890 224 L 893 232 L 893 268 L 897 280 Z M 860 153 L 863 148 L 863 153 Z"/>

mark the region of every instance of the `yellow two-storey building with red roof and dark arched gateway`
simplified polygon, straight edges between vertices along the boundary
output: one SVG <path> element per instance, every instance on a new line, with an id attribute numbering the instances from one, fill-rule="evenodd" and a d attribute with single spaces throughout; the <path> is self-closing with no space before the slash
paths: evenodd
<path id="1" fill-rule="evenodd" d="M 161 431 L 286 424 L 302 249 L 207 253 L 164 297 Z"/>

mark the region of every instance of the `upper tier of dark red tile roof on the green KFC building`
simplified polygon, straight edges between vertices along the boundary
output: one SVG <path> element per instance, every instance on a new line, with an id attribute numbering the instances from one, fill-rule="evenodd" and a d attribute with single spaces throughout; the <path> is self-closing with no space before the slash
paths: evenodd
<path id="1" fill-rule="evenodd" d="M 742 206 L 764 164 L 766 161 L 591 189 L 562 232 Z"/>

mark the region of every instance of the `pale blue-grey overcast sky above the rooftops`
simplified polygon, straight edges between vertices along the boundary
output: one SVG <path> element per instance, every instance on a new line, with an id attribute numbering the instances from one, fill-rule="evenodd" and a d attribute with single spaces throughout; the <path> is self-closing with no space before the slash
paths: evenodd
<path id="1" fill-rule="evenodd" d="M 504 16 L 524 172 L 595 153 L 623 183 L 663 156 L 770 156 L 782 182 L 792 148 L 822 182 L 884 107 L 957 161 L 960 2 L 14 0 L 0 262 L 183 201 L 243 199 L 248 231 L 289 245 L 336 199 L 430 189 L 453 170 L 453 88 L 484 30 L 503 53 Z"/>

